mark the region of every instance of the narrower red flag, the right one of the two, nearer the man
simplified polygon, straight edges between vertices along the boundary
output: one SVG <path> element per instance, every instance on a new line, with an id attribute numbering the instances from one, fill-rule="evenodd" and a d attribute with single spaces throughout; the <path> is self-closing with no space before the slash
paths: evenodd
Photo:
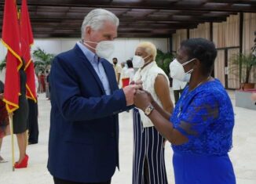
<path id="1" fill-rule="evenodd" d="M 22 0 L 20 17 L 20 45 L 21 57 L 25 61 L 25 72 L 27 74 L 27 98 L 34 99 L 36 102 L 35 90 L 35 70 L 34 63 L 31 60 L 30 49 L 34 42 L 29 13 L 27 10 L 27 0 Z"/>

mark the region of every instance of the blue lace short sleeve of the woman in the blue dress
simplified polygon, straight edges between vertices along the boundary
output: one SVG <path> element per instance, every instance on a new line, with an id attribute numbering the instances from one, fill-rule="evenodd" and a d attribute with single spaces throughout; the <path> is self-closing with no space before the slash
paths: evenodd
<path id="1" fill-rule="evenodd" d="M 218 100 L 213 94 L 201 93 L 181 113 L 179 124 L 174 127 L 183 135 L 192 139 L 198 137 L 219 116 Z"/>

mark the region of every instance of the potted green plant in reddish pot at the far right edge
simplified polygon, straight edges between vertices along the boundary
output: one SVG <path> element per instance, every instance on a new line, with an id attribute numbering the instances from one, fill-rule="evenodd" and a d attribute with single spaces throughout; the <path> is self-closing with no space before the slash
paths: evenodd
<path id="1" fill-rule="evenodd" d="M 239 65 L 240 88 L 254 88 L 254 83 L 250 82 L 251 71 L 256 66 L 256 56 L 254 54 L 239 53 L 233 56 L 234 64 Z"/>

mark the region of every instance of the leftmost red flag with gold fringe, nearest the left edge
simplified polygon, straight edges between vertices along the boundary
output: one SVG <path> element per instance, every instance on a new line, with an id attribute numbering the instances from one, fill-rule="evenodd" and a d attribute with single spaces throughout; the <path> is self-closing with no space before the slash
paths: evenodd
<path id="1" fill-rule="evenodd" d="M 4 101 L 9 112 L 19 108 L 20 74 L 20 29 L 16 2 L 5 0 L 2 23 L 2 43 L 8 49 L 6 57 Z"/>

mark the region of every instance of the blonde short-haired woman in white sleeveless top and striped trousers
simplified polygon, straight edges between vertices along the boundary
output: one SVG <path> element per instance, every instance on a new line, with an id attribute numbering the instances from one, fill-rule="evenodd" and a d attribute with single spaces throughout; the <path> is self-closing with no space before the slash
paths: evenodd
<path id="1" fill-rule="evenodd" d="M 144 90 L 151 92 L 155 102 L 171 113 L 174 104 L 170 99 L 169 78 L 155 63 L 156 48 L 151 42 L 137 45 L 132 64 L 137 67 L 133 80 L 142 81 Z M 165 139 L 157 132 L 152 121 L 143 110 L 133 109 L 133 184 L 167 184 L 165 159 Z"/>

